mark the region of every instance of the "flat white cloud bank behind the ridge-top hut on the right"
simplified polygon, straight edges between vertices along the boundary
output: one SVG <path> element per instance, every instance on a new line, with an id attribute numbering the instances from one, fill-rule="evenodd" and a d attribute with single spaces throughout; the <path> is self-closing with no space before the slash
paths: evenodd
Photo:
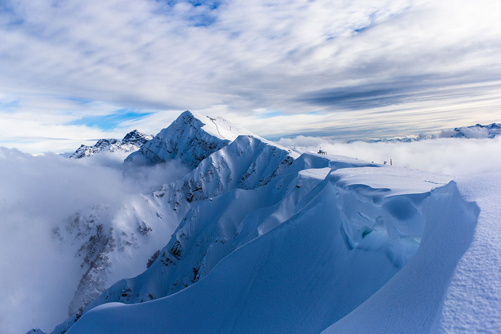
<path id="1" fill-rule="evenodd" d="M 435 138 L 414 142 L 351 143 L 298 136 L 282 138 L 279 144 L 298 152 L 318 152 L 345 155 L 366 161 L 383 163 L 390 159 L 394 166 L 421 169 L 452 176 L 501 171 L 501 138 L 463 139 Z"/>

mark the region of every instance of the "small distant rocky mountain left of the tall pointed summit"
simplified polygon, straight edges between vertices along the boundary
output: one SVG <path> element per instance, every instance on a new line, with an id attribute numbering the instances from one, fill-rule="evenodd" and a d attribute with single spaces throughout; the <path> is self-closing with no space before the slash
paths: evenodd
<path id="1" fill-rule="evenodd" d="M 153 136 L 145 135 L 137 130 L 129 132 L 122 140 L 108 138 L 99 139 L 92 146 L 81 145 L 70 158 L 80 159 L 89 157 L 98 152 L 132 152 L 137 151 L 143 144 L 152 139 Z"/>

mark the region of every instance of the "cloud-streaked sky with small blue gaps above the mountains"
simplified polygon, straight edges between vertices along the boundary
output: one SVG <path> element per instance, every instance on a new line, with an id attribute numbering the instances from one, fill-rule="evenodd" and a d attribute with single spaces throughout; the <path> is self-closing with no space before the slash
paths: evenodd
<path id="1" fill-rule="evenodd" d="M 2 0 L 0 145 L 72 151 L 186 109 L 272 140 L 499 122 L 500 55 L 493 0 Z"/>

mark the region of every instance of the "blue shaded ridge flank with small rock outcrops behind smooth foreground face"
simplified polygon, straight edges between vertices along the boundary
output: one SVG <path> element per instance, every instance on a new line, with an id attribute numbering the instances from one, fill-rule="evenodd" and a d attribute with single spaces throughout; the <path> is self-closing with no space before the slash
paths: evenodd
<path id="1" fill-rule="evenodd" d="M 86 310 L 110 301 L 136 303 L 177 292 L 209 273 L 239 245 L 288 219 L 328 169 L 277 177 L 253 190 L 234 189 L 193 207 L 156 261 L 141 275 L 107 289 Z"/>

